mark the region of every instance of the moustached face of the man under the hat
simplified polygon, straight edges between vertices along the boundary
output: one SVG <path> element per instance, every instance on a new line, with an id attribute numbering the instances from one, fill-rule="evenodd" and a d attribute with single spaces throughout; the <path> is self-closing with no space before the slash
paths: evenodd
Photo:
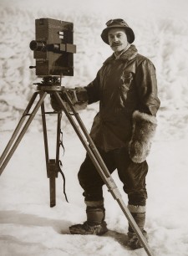
<path id="1" fill-rule="evenodd" d="M 122 51 L 128 44 L 124 28 L 111 28 L 108 33 L 109 46 L 114 52 Z"/>

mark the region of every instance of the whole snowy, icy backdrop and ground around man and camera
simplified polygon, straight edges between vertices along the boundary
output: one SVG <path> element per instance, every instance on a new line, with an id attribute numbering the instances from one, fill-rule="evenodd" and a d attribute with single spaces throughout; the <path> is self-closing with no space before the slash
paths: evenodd
<path id="1" fill-rule="evenodd" d="M 0 154 L 18 124 L 38 81 L 33 69 L 36 18 L 74 23 L 74 77 L 64 86 L 84 86 L 94 79 L 111 50 L 100 33 L 109 18 L 124 18 L 135 31 L 140 54 L 156 67 L 161 107 L 158 131 L 148 157 L 146 229 L 156 256 L 188 255 L 188 2 L 185 0 L 1 0 L 0 1 Z M 51 110 L 48 100 L 46 105 Z M 98 105 L 80 113 L 88 130 Z M 39 112 L 39 111 L 38 111 Z M 146 255 L 125 246 L 127 220 L 104 187 L 106 221 L 103 237 L 70 235 L 69 226 L 85 220 L 77 172 L 84 148 L 63 118 L 62 157 L 69 203 L 57 179 L 57 206 L 49 207 L 41 116 L 36 115 L 0 178 L 0 255 Z M 55 117 L 48 116 L 50 158 L 54 158 Z M 61 152 L 63 156 L 63 152 Z M 122 184 L 113 174 L 120 192 Z M 124 202 L 127 197 L 122 192 Z"/>

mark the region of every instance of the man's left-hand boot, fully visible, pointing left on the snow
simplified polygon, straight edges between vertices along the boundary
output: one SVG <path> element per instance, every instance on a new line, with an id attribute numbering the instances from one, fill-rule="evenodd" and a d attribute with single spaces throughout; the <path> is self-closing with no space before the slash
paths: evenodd
<path id="1" fill-rule="evenodd" d="M 87 221 L 83 224 L 76 224 L 69 227 L 73 234 L 95 234 L 102 235 L 108 231 L 104 221 L 105 209 L 102 201 L 86 202 Z"/>

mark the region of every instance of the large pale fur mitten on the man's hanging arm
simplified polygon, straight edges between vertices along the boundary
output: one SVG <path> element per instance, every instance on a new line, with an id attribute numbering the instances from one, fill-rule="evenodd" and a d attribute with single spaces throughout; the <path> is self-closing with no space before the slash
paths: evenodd
<path id="1" fill-rule="evenodd" d="M 140 163 L 145 161 L 150 153 L 150 146 L 157 120 L 155 116 L 141 113 L 136 110 L 133 113 L 133 131 L 129 144 L 129 153 L 132 161 Z"/>

